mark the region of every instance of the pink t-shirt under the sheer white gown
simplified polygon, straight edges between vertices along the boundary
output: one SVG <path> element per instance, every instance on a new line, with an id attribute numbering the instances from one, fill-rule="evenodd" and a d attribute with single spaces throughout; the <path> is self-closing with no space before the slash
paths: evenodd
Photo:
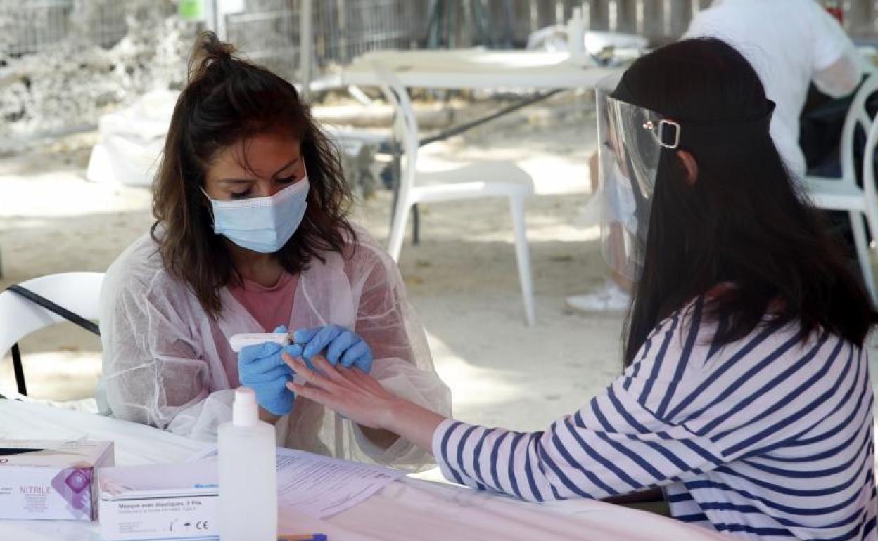
<path id="1" fill-rule="evenodd" d="M 278 325 L 290 324 L 297 285 L 298 275 L 284 273 L 275 285 L 268 288 L 245 278 L 243 287 L 229 285 L 228 290 L 265 332 L 271 332 Z"/>

